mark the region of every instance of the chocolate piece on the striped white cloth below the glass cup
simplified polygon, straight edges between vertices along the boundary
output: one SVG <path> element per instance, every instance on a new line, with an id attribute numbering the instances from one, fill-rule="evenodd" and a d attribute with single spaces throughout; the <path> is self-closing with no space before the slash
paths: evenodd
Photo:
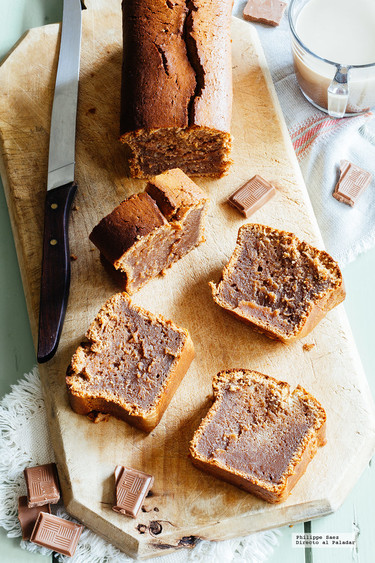
<path id="1" fill-rule="evenodd" d="M 348 160 L 340 162 L 340 178 L 335 186 L 333 197 L 353 207 L 367 186 L 371 183 L 372 174 Z"/>

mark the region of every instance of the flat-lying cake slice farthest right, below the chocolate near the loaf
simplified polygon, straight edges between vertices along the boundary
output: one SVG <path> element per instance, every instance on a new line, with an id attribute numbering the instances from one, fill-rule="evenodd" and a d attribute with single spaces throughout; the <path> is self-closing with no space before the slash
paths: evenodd
<path id="1" fill-rule="evenodd" d="M 215 302 L 270 338 L 291 342 L 308 334 L 345 298 L 338 264 L 293 233 L 243 225 Z"/>

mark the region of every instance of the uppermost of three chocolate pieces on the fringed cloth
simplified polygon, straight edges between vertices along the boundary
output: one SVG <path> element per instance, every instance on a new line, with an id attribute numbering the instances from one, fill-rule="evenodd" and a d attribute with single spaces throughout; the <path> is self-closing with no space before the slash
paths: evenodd
<path id="1" fill-rule="evenodd" d="M 29 508 L 59 502 L 59 478 L 54 463 L 38 465 L 37 467 L 26 467 L 24 475 L 27 487 L 27 505 Z"/>

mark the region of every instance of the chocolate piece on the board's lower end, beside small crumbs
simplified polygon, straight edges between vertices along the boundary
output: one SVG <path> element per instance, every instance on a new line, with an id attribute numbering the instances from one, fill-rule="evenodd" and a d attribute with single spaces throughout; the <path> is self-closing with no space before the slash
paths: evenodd
<path id="1" fill-rule="evenodd" d="M 152 475 L 117 465 L 115 469 L 116 505 L 112 509 L 136 518 L 153 482 Z"/>

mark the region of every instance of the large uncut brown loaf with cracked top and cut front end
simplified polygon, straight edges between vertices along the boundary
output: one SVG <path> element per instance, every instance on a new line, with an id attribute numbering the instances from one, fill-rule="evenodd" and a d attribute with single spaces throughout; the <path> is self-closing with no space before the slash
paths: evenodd
<path id="1" fill-rule="evenodd" d="M 120 140 L 130 174 L 231 164 L 233 0 L 123 0 Z"/>

